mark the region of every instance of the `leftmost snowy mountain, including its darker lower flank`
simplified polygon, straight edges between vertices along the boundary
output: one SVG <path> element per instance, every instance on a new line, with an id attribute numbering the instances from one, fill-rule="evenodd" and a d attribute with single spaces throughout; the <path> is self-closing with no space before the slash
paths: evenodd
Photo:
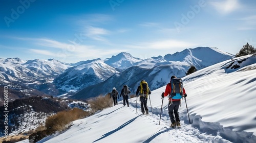
<path id="1" fill-rule="evenodd" d="M 18 89 L 18 92 L 24 92 L 28 97 L 32 96 L 32 93 L 27 91 L 35 89 L 55 95 L 58 90 L 52 84 L 53 80 L 71 66 L 72 64 L 55 59 L 24 61 L 19 58 L 1 58 L 0 85 Z"/>

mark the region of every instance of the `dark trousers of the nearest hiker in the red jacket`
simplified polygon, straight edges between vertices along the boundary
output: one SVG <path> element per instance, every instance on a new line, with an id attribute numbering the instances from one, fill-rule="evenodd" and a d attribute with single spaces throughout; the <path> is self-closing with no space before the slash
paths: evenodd
<path id="1" fill-rule="evenodd" d="M 169 102 L 168 105 L 168 113 L 170 117 L 170 122 L 175 123 L 180 121 L 180 116 L 179 116 L 179 107 L 180 107 L 180 101 L 173 101 L 173 104 Z M 175 118 L 174 118 L 175 115 Z"/>

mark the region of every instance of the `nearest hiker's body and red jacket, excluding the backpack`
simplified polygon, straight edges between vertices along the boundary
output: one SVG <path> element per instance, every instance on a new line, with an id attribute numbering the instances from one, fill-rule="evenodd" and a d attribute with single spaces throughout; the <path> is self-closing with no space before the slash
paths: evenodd
<path id="1" fill-rule="evenodd" d="M 162 93 L 162 98 L 166 97 L 169 95 L 169 104 L 168 104 L 168 113 L 169 113 L 169 117 L 170 117 L 170 122 L 172 122 L 172 124 L 170 125 L 173 128 L 176 128 L 176 125 L 178 128 L 180 128 L 180 116 L 179 116 L 179 106 L 181 104 L 181 99 L 173 99 L 174 97 L 171 98 L 171 94 L 172 94 L 172 79 L 177 78 L 175 76 L 172 76 L 170 78 L 170 83 L 168 83 L 166 85 L 165 91 Z M 182 86 L 183 88 L 183 86 Z M 182 89 L 181 89 L 182 90 Z M 183 97 L 187 97 L 186 91 L 183 88 Z M 175 115 L 175 118 L 174 118 Z"/>

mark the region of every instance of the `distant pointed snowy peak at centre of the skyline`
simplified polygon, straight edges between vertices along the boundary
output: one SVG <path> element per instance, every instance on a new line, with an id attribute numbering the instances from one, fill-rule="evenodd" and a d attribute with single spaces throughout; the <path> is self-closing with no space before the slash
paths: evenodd
<path id="1" fill-rule="evenodd" d="M 109 59 L 105 59 L 104 62 L 112 67 L 118 69 L 126 69 L 132 66 L 133 63 L 142 61 L 140 58 L 135 58 L 131 54 L 122 52 L 116 56 L 112 56 Z"/>

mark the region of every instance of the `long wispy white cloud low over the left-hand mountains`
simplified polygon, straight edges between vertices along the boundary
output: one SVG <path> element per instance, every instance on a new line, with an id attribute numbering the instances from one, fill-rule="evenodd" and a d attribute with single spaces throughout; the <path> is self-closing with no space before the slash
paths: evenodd
<path id="1" fill-rule="evenodd" d="M 32 38 L 29 38 L 32 40 Z M 51 39 L 33 39 L 36 44 L 43 46 L 41 49 L 29 49 L 34 54 L 52 56 L 60 58 L 60 61 L 80 61 L 83 59 L 95 59 L 105 57 L 115 53 L 123 52 L 121 49 L 106 49 L 93 45 L 83 45 L 75 42 L 65 43 Z"/>

